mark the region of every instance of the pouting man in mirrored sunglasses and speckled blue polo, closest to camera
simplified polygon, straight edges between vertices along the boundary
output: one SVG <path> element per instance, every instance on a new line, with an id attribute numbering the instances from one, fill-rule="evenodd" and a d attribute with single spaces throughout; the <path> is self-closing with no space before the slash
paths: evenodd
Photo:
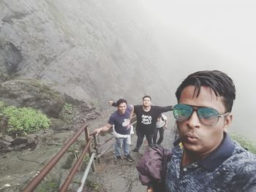
<path id="1" fill-rule="evenodd" d="M 236 88 L 227 74 L 190 74 L 173 107 L 182 145 L 167 164 L 167 191 L 256 191 L 256 157 L 230 139 Z"/>

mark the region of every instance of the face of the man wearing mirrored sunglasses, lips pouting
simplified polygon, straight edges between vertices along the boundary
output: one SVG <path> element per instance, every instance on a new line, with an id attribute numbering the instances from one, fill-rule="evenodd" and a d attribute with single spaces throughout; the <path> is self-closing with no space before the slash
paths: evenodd
<path id="1" fill-rule="evenodd" d="M 199 96 L 193 97 L 195 86 L 189 85 L 181 92 L 180 104 L 189 104 L 197 107 L 210 107 L 223 114 L 225 107 L 222 99 L 216 97 L 214 91 L 208 87 L 201 87 Z M 207 155 L 214 150 L 223 139 L 225 128 L 231 123 L 232 115 L 219 118 L 215 126 L 205 126 L 200 123 L 197 112 L 193 112 L 190 118 L 182 122 L 178 122 L 178 133 L 181 137 L 185 149 L 199 155 Z"/>

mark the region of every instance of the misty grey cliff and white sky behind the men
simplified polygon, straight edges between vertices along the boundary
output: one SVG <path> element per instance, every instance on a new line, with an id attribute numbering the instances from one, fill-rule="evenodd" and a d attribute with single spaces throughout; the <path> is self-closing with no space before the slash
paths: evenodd
<path id="1" fill-rule="evenodd" d="M 145 94 L 154 105 L 176 104 L 188 74 L 221 70 L 237 90 L 230 131 L 256 140 L 255 8 L 236 0 L 3 0 L 0 72 L 106 108 L 120 97 L 140 104 Z"/>

